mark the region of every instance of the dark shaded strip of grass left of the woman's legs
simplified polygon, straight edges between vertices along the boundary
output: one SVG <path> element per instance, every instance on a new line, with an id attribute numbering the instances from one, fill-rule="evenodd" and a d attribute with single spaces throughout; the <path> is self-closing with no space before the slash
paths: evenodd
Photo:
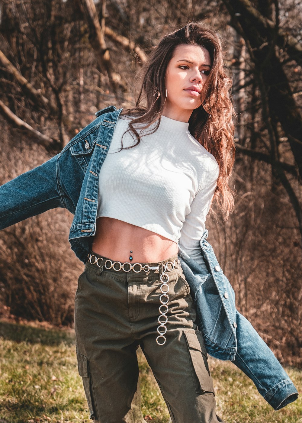
<path id="1" fill-rule="evenodd" d="M 42 345 L 74 345 L 74 331 L 53 330 L 0 321 L 0 337 L 15 342 L 26 341 Z"/>

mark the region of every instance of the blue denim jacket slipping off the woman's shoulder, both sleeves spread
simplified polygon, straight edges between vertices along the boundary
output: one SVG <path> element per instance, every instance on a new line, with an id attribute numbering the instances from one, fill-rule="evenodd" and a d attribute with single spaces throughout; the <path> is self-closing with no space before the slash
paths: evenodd
<path id="1" fill-rule="evenodd" d="M 106 158 L 122 109 L 107 107 L 52 159 L 0 187 L 0 229 L 55 207 L 74 214 L 69 242 L 85 263 L 96 231 L 99 171 Z M 232 362 L 255 383 L 259 393 L 280 409 L 298 397 L 297 389 L 275 355 L 235 307 L 231 284 L 213 248 L 200 239 L 204 266 L 179 248 L 209 354 Z"/>

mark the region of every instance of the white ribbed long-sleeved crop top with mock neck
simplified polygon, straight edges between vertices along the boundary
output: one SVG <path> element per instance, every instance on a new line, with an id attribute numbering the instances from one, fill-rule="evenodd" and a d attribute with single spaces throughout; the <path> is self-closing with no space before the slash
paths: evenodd
<path id="1" fill-rule="evenodd" d="M 216 159 L 192 137 L 188 123 L 165 116 L 154 134 L 118 151 L 128 122 L 118 119 L 101 167 L 97 217 L 113 217 L 178 242 L 201 264 L 199 242 L 219 175 Z M 123 147 L 136 142 L 129 132 L 123 137 Z"/>

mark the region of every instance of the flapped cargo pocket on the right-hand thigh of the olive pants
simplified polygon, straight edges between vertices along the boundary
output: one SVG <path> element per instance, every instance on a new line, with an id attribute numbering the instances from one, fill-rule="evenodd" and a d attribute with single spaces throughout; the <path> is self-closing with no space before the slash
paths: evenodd
<path id="1" fill-rule="evenodd" d="M 196 393 L 214 393 L 213 380 L 208 365 L 208 354 L 204 346 L 203 335 L 198 330 L 194 332 L 184 330 L 187 340 L 190 364 Z"/>

